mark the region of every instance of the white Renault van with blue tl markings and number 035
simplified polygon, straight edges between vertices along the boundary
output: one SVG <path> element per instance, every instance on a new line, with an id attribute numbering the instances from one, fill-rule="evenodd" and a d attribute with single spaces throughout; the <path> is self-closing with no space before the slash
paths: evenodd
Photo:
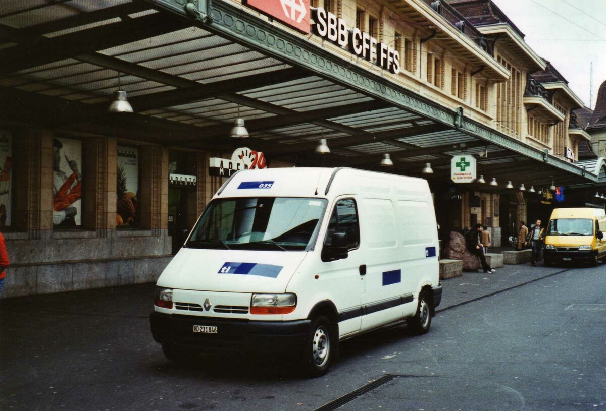
<path id="1" fill-rule="evenodd" d="M 324 373 L 339 340 L 402 320 L 431 325 L 442 297 L 427 181 L 350 168 L 240 171 L 156 284 L 165 355 L 288 352 Z"/>

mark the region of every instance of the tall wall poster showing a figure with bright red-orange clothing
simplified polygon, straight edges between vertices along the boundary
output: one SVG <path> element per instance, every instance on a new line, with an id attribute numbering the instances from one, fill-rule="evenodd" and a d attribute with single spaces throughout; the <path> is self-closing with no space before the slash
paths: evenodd
<path id="1" fill-rule="evenodd" d="M 82 224 L 82 142 L 53 139 L 53 226 Z"/>

